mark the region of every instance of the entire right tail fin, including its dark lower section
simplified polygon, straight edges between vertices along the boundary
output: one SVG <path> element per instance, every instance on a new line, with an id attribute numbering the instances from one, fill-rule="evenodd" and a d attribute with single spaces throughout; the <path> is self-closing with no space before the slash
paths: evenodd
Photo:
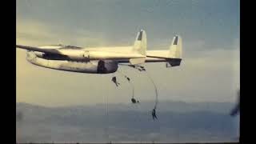
<path id="1" fill-rule="evenodd" d="M 166 67 L 180 66 L 182 62 L 182 38 L 179 35 L 174 36 L 171 42 L 168 59 Z"/>

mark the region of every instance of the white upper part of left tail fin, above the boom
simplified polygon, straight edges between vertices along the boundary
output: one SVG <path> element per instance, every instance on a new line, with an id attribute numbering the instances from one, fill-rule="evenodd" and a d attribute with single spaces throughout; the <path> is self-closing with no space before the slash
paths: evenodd
<path id="1" fill-rule="evenodd" d="M 133 50 L 138 54 L 146 55 L 146 31 L 140 30 L 134 42 Z"/>

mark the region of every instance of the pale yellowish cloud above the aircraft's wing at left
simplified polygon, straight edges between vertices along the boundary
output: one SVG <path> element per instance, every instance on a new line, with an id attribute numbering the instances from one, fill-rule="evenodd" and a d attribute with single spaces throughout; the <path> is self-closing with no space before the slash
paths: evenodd
<path id="1" fill-rule="evenodd" d="M 101 46 L 106 43 L 105 39 L 98 37 L 95 32 L 89 30 L 66 30 L 65 27 L 56 29 L 56 26 L 49 26 L 34 20 L 21 20 L 16 24 L 17 38 L 16 42 L 23 45 L 41 46 L 47 44 L 66 44 L 77 46 Z"/>

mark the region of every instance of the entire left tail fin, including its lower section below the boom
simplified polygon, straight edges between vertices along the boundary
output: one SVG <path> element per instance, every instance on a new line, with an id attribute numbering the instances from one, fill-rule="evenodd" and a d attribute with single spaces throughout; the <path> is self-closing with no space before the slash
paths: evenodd
<path id="1" fill-rule="evenodd" d="M 134 47 L 132 49 L 135 53 L 142 54 L 145 58 L 130 58 L 130 64 L 137 65 L 146 61 L 146 32 L 145 30 L 140 30 L 134 42 Z"/>

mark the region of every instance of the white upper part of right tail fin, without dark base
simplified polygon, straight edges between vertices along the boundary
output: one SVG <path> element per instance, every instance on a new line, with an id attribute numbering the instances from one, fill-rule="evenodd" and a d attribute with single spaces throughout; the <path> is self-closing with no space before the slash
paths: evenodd
<path id="1" fill-rule="evenodd" d="M 171 42 L 169 58 L 182 58 L 182 38 L 178 35 Z"/>

